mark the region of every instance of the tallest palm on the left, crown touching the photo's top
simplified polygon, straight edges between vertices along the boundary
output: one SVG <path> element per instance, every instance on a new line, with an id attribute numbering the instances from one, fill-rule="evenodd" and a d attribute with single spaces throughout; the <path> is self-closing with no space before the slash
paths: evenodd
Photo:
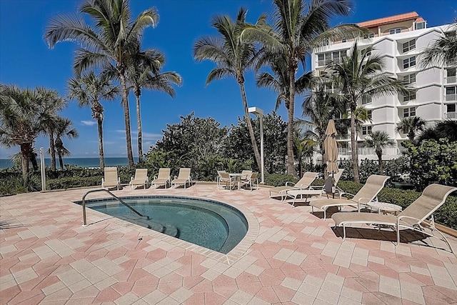
<path id="1" fill-rule="evenodd" d="M 75 41 L 81 45 L 75 52 L 73 69 L 76 76 L 94 67 L 116 71 L 124 106 L 127 159 L 133 167 L 126 67 L 131 54 L 138 49 L 144 29 L 156 26 L 159 15 L 154 9 L 147 9 L 132 20 L 128 0 L 85 0 L 79 12 L 88 14 L 95 28 L 74 16 L 57 16 L 46 26 L 44 37 L 50 48 L 59 41 Z"/>

